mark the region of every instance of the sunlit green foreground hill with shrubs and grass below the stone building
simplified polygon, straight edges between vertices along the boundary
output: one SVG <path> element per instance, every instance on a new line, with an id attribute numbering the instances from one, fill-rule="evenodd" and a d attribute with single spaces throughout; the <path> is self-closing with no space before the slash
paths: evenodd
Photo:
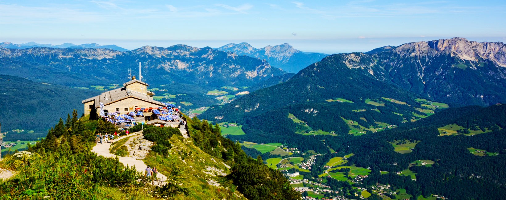
<path id="1" fill-rule="evenodd" d="M 3 169 L 16 172 L 0 182 L 0 197 L 300 199 L 281 172 L 268 168 L 261 158 L 247 157 L 238 143 L 220 136 L 218 126 L 197 118 L 188 120 L 188 125 L 192 138 L 183 138 L 179 129 L 172 127 L 145 125 L 143 132 L 137 133 L 154 142 L 143 161 L 167 177 L 163 186 L 155 186 L 150 177 L 125 167 L 117 157 L 92 153 L 93 146 L 104 145 L 95 144 L 95 135 L 112 134 L 116 129 L 106 121 L 88 120 L 87 116 L 79 119 L 74 111 L 66 123 L 60 119 L 45 139 L 0 162 Z M 141 129 L 137 125 L 131 133 Z M 113 144 L 123 145 L 128 139 Z"/>

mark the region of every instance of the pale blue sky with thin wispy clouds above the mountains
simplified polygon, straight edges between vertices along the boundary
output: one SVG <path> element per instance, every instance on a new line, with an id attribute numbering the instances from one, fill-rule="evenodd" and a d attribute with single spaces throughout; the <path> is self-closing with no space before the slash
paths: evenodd
<path id="1" fill-rule="evenodd" d="M 366 52 L 451 37 L 506 42 L 506 1 L 2 1 L 0 42 Z"/>

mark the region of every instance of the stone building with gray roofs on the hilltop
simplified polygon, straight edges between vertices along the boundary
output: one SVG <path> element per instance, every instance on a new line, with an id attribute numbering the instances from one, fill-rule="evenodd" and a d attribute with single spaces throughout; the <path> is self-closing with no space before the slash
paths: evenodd
<path id="1" fill-rule="evenodd" d="M 90 119 L 98 119 L 100 103 L 104 106 L 104 113 L 119 112 L 120 115 L 135 112 L 136 108 L 158 108 L 165 105 L 155 101 L 155 93 L 147 89 L 149 85 L 132 77 L 132 80 L 123 83 L 123 87 L 103 92 L 82 101 L 85 105 L 85 115 L 90 115 Z M 145 120 L 150 121 L 152 116 L 146 116 Z M 137 119 L 136 119 L 137 121 Z"/>

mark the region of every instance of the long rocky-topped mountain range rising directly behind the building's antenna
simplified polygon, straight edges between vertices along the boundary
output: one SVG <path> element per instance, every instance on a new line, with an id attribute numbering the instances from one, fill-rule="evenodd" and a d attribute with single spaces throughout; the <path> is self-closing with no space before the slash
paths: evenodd
<path id="1" fill-rule="evenodd" d="M 123 82 L 129 69 L 138 73 L 139 62 L 143 81 L 151 84 L 251 86 L 284 74 L 259 59 L 187 45 L 143 46 L 129 52 L 104 48 L 0 48 L 0 58 L 3 74 L 81 87 Z M 27 71 L 35 73 L 22 73 Z M 70 80 L 63 74 L 70 75 Z M 74 81 L 72 75 L 89 82 Z"/>

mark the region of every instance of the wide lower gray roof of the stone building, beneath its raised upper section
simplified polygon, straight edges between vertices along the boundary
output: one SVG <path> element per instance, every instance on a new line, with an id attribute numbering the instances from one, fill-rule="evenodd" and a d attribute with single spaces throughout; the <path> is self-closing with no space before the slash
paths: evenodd
<path id="1" fill-rule="evenodd" d="M 98 108 L 98 107 L 100 107 L 100 102 L 102 102 L 102 104 L 104 104 L 104 105 L 108 105 L 108 104 L 112 104 L 114 102 L 120 101 L 120 100 L 128 98 L 128 97 L 134 97 L 134 98 L 140 99 L 145 102 L 156 104 L 158 106 L 165 106 L 163 103 L 155 101 L 152 98 L 150 98 L 149 95 L 126 89 L 126 87 L 113 89 L 110 91 L 103 92 L 102 94 L 100 94 L 98 96 L 87 98 L 82 101 L 82 104 L 85 104 L 85 103 L 95 100 L 95 108 Z"/>

